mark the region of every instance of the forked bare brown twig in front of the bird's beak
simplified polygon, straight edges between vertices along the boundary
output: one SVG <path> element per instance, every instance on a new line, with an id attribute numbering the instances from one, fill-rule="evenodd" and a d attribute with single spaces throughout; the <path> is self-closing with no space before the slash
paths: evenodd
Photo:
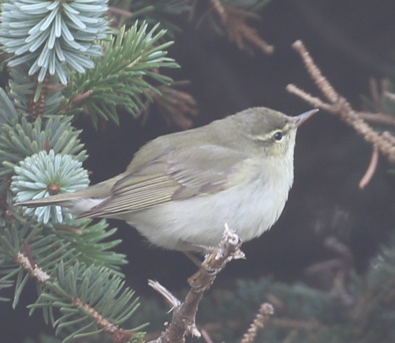
<path id="1" fill-rule="evenodd" d="M 353 127 L 357 133 L 361 134 L 367 142 L 376 146 L 383 155 L 387 156 L 389 161 L 395 162 L 395 137 L 389 132 L 380 134 L 366 124 L 362 116 L 351 107 L 350 103 L 344 97 L 337 93 L 328 80 L 322 75 L 301 41 L 296 41 L 292 46 L 301 55 L 311 78 L 328 102 L 326 103 L 317 97 L 313 97 L 295 85 L 288 85 L 287 90 L 315 107 L 340 115 L 340 117 Z"/>

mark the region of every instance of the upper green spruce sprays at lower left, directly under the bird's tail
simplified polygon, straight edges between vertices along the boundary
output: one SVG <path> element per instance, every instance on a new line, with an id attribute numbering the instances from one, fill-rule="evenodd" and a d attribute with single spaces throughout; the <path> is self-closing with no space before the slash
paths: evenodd
<path id="1" fill-rule="evenodd" d="M 18 217 L 16 212 L 13 214 Z M 14 307 L 30 278 L 26 266 L 17 263 L 15 259 L 21 252 L 34 257 L 35 263 L 48 275 L 53 273 L 60 262 L 67 267 L 78 261 L 86 261 L 92 266 L 105 268 L 107 273 L 123 277 L 119 266 L 126 263 L 125 256 L 110 251 L 120 241 L 109 240 L 116 229 L 105 231 L 108 224 L 104 220 L 93 225 L 89 225 L 90 219 L 83 220 L 73 230 L 66 224 L 53 228 L 48 225 L 32 225 L 31 221 L 20 219 L 2 219 L 0 222 L 0 274 L 3 275 L 0 285 L 8 287 L 10 280 L 16 278 Z"/>

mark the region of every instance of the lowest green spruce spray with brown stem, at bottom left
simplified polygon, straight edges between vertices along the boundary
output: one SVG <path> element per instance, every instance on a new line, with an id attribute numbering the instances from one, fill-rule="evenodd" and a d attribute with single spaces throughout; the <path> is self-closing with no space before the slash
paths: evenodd
<path id="1" fill-rule="evenodd" d="M 95 321 L 103 316 L 113 325 L 120 325 L 137 309 L 137 299 L 132 301 L 134 292 L 123 288 L 124 281 L 105 267 L 86 266 L 76 262 L 65 269 L 58 263 L 52 278 L 45 283 L 45 291 L 32 311 L 42 308 L 45 320 L 49 320 L 56 333 L 69 332 L 64 343 L 79 337 L 92 336 L 103 331 Z M 54 306 L 59 308 L 56 318 Z M 93 321 L 92 321 L 93 318 Z M 67 329 L 67 330 L 65 330 Z M 135 332 L 141 327 L 125 330 Z"/>

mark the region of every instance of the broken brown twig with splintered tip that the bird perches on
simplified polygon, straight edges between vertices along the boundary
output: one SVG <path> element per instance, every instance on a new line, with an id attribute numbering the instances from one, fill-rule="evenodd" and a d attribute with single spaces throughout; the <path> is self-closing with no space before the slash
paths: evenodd
<path id="1" fill-rule="evenodd" d="M 195 325 L 197 305 L 204 291 L 211 286 L 215 277 L 225 267 L 226 263 L 232 259 L 244 258 L 244 253 L 240 250 L 240 246 L 240 238 L 226 224 L 218 248 L 205 257 L 200 269 L 188 279 L 191 290 L 181 305 L 175 307 L 169 327 L 165 332 L 162 332 L 157 340 L 150 343 L 178 343 L 184 342 L 184 338 L 188 334 L 200 336 Z"/>

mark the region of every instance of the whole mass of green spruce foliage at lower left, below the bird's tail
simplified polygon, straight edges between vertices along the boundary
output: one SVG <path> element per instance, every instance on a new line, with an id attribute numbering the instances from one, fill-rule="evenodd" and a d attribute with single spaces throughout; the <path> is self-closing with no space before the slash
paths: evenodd
<path id="1" fill-rule="evenodd" d="M 0 289 L 9 287 L 14 281 L 13 307 L 31 274 L 38 273 L 45 282 L 41 281 L 39 299 L 31 308 L 42 308 L 45 320 L 50 320 L 57 333 L 68 332 L 64 342 L 103 330 L 95 328 L 89 334 L 85 332 L 95 327 L 87 308 L 114 325 L 122 324 L 134 313 L 137 299 L 132 300 L 133 291 L 124 289 L 123 275 L 119 272 L 119 266 L 126 263 L 124 255 L 110 251 L 120 242 L 108 240 L 116 229 L 105 231 L 108 225 L 104 220 L 94 225 L 89 225 L 90 219 L 83 220 L 74 230 L 65 225 L 53 228 L 40 224 L 32 226 L 31 222 L 23 224 L 22 221 L 21 218 L 17 222 L 9 219 L 0 222 Z M 31 265 L 33 269 L 26 272 L 27 265 L 21 262 L 24 255 L 34 256 L 40 270 Z M 31 263 L 27 257 L 25 263 Z M 59 318 L 53 306 L 60 308 Z M 130 331 L 137 330 L 139 328 Z"/>

